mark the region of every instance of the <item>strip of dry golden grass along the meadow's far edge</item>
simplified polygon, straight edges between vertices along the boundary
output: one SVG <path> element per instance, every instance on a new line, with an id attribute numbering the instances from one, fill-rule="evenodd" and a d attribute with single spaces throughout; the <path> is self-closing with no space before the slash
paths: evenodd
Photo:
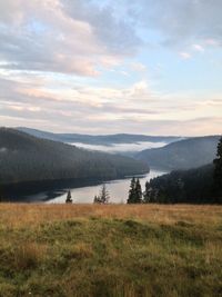
<path id="1" fill-rule="evenodd" d="M 214 225 L 222 218 L 222 206 L 0 204 L 0 224 L 11 227 L 91 217 Z"/>

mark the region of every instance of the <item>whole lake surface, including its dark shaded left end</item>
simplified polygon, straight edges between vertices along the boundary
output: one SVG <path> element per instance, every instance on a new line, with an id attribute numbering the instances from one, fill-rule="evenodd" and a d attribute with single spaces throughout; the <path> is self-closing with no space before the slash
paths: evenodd
<path id="1" fill-rule="evenodd" d="M 150 170 L 150 172 L 139 176 L 142 187 L 147 180 L 163 175 L 160 170 Z M 98 179 L 73 179 L 73 180 L 51 180 L 19 182 L 0 187 L 3 201 L 9 202 L 49 202 L 62 204 L 65 201 L 67 191 L 70 189 L 75 204 L 91 204 L 93 197 L 99 194 L 101 185 L 107 184 L 110 192 L 110 202 L 124 202 L 128 198 L 128 191 L 131 177 L 117 180 Z"/>

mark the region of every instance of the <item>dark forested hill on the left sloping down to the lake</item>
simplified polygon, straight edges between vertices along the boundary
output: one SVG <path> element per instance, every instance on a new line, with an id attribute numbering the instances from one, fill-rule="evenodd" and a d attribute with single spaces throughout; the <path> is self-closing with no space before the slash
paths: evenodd
<path id="1" fill-rule="evenodd" d="M 142 161 L 88 151 L 0 128 L 0 184 L 74 178 L 114 179 L 149 170 Z"/>

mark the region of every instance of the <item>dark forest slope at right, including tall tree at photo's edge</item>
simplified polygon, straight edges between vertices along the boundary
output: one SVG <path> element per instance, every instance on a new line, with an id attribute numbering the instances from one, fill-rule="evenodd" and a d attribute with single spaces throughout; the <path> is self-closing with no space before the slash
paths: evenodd
<path id="1" fill-rule="evenodd" d="M 144 202 L 222 204 L 222 138 L 213 162 L 175 170 L 147 182 Z"/>

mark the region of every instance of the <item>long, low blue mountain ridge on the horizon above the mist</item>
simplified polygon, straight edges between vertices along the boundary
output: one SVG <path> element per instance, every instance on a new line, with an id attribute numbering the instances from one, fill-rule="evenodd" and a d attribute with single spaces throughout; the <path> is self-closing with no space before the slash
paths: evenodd
<path id="1" fill-rule="evenodd" d="M 87 145 L 102 145 L 102 146 L 111 146 L 117 143 L 134 143 L 134 142 L 172 142 L 180 137 L 174 136 L 145 136 L 145 135 L 128 135 L 128 133 L 118 133 L 118 135 L 80 135 L 80 133 L 52 133 L 47 131 L 40 131 L 37 129 L 19 127 L 17 128 L 20 131 L 27 132 L 29 135 L 62 141 L 62 142 L 81 142 Z"/>

